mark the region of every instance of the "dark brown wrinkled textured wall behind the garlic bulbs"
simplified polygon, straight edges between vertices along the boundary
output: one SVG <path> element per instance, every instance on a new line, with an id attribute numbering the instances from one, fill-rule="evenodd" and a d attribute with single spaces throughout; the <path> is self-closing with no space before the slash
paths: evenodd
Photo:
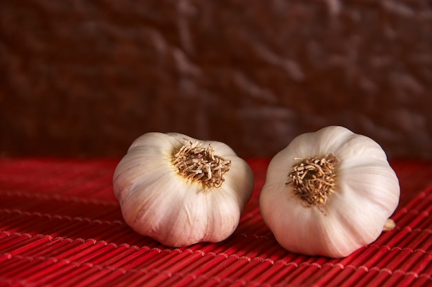
<path id="1" fill-rule="evenodd" d="M 121 156 L 147 131 L 273 156 L 344 125 L 432 158 L 431 1 L 0 2 L 2 156 Z"/>

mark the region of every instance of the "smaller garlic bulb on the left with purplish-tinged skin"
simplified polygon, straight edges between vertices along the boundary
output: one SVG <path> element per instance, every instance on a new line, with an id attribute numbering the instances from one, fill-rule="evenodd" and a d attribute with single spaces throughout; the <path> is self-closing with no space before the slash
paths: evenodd
<path id="1" fill-rule="evenodd" d="M 253 191 L 251 168 L 230 147 L 175 133 L 137 138 L 112 182 L 126 223 L 166 246 L 226 239 Z"/>

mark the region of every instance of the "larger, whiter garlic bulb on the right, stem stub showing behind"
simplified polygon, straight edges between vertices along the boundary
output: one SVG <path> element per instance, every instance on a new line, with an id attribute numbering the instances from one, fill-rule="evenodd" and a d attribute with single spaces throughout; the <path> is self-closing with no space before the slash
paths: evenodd
<path id="1" fill-rule="evenodd" d="M 388 218 L 399 196 L 380 145 L 332 126 L 297 136 L 276 154 L 259 208 L 286 250 L 344 257 L 394 227 Z"/>

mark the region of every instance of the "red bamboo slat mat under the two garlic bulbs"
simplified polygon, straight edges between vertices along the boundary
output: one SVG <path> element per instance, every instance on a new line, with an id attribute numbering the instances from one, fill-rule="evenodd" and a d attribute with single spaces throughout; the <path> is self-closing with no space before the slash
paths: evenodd
<path id="1" fill-rule="evenodd" d="M 288 253 L 259 215 L 268 160 L 248 160 L 255 191 L 218 244 L 166 248 L 124 223 L 118 160 L 0 160 L 0 286 L 432 286 L 432 162 L 391 162 L 397 227 L 343 259 Z"/>

